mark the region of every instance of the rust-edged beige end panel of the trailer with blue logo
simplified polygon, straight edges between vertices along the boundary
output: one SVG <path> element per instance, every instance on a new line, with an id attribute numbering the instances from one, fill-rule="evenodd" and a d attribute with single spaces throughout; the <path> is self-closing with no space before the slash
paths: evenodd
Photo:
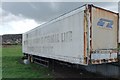
<path id="1" fill-rule="evenodd" d="M 91 15 L 92 63 L 116 62 L 118 14 L 93 6 Z"/>

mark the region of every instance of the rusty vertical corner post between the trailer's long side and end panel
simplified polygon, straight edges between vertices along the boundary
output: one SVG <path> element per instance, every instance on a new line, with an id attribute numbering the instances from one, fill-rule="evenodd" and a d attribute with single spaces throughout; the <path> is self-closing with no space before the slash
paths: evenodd
<path id="1" fill-rule="evenodd" d="M 88 64 L 91 52 L 91 5 L 86 5 L 84 16 L 84 63 Z"/>

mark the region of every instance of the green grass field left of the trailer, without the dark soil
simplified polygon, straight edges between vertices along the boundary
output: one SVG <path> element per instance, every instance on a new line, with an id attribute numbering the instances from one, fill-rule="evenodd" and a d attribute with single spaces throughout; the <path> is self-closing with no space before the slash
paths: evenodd
<path id="1" fill-rule="evenodd" d="M 2 48 L 2 78 L 44 78 L 52 79 L 48 68 L 38 64 L 23 64 L 21 45 L 4 46 Z M 41 80 L 40 79 L 40 80 Z M 22 79 L 21 79 L 22 80 Z M 33 79 L 34 80 L 34 79 Z"/>

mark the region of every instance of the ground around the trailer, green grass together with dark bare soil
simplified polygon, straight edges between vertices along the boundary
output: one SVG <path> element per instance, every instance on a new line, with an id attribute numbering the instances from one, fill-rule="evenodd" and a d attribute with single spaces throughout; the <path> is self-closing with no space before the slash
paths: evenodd
<path id="1" fill-rule="evenodd" d="M 39 64 L 24 64 L 21 45 L 2 47 L 2 80 L 56 80 L 60 78 L 105 78 L 84 70 L 55 64 L 54 71 Z M 64 80 L 65 80 L 64 79 Z M 68 80 L 68 79 L 67 79 Z"/>

